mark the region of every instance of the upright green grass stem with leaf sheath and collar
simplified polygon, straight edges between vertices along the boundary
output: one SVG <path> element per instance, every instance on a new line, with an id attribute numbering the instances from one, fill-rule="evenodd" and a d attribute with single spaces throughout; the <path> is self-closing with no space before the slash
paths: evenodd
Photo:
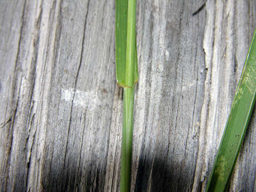
<path id="1" fill-rule="evenodd" d="M 121 152 L 122 192 L 131 190 L 134 87 L 138 81 L 136 0 L 116 0 L 116 79 L 124 88 Z"/>

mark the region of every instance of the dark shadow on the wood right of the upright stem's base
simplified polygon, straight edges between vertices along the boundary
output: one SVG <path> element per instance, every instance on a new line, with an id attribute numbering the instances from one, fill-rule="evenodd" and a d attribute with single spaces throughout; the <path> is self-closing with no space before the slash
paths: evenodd
<path id="1" fill-rule="evenodd" d="M 168 165 L 166 159 L 158 157 L 157 154 L 154 158 L 141 157 L 135 191 L 187 191 L 191 181 L 177 175 L 181 166 L 179 163 L 172 163 L 172 166 L 169 163 Z M 182 169 L 186 170 L 186 167 L 182 167 Z"/>

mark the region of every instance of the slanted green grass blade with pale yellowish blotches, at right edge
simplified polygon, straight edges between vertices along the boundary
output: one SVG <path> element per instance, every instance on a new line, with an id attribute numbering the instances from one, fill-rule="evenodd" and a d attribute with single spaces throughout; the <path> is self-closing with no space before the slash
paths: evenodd
<path id="1" fill-rule="evenodd" d="M 256 93 L 255 33 L 256 30 L 254 31 L 206 191 L 220 192 L 227 189 L 250 120 Z"/>

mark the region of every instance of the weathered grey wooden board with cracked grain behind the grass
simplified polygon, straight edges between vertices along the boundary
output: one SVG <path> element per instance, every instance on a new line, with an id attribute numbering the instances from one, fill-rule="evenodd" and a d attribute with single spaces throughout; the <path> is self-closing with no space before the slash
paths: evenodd
<path id="1" fill-rule="evenodd" d="M 132 190 L 205 191 L 256 2 L 137 7 Z M 115 1 L 2 0 L 0 22 L 1 191 L 119 191 Z M 256 191 L 255 127 L 230 191 Z"/>

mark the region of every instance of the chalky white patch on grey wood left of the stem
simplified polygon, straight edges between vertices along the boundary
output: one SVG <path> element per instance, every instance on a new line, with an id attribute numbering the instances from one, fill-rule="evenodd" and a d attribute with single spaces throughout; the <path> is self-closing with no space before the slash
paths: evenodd
<path id="1" fill-rule="evenodd" d="M 77 107 L 100 105 L 100 99 L 97 94 L 93 92 L 75 90 L 73 88 L 69 88 L 68 90 L 61 89 L 60 99 L 70 103 L 73 101 L 74 105 Z"/>

